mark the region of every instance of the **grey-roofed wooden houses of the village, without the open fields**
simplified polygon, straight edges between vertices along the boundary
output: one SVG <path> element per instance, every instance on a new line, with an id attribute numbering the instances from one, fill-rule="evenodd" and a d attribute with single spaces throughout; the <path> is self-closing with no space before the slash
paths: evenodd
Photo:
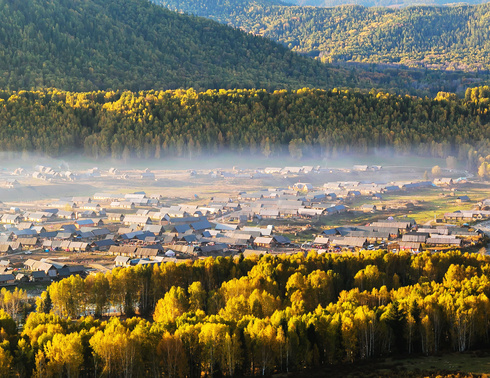
<path id="1" fill-rule="evenodd" d="M 355 166 L 354 171 L 376 171 L 379 166 Z M 265 175 L 320 173 L 320 167 L 268 167 L 258 171 Z M 67 169 L 53 170 L 38 166 L 44 178 L 68 177 Z M 224 175 L 226 172 L 215 172 Z M 23 172 L 18 172 L 23 174 Z M 98 177 L 94 168 L 85 174 Z M 107 174 L 107 173 L 104 173 Z M 108 173 L 120 175 L 116 169 Z M 145 178 L 153 179 L 146 170 Z M 236 175 L 242 174 L 240 171 Z M 60 176 L 61 175 L 61 176 Z M 63 176 L 64 175 L 64 176 Z M 224 177 L 224 176 L 223 176 Z M 177 258 L 231 255 L 254 251 L 297 251 L 299 246 L 268 225 L 281 219 L 319 219 L 348 211 L 352 198 L 381 200 L 390 193 L 451 186 L 457 180 L 414 181 L 380 184 L 361 181 L 337 181 L 314 187 L 297 182 L 289 188 L 273 188 L 220 196 L 200 205 L 167 205 L 159 195 L 135 193 L 96 193 L 93 196 L 60 198 L 45 208 L 11 207 L 0 214 L 0 253 L 30 253 L 39 250 L 48 259 L 27 260 L 27 274 L 14 279 L 24 282 L 59 279 L 78 274 L 83 267 L 60 265 L 49 260 L 52 251 L 93 251 L 114 256 L 114 266 L 160 264 Z M 469 200 L 458 197 L 460 202 Z M 366 205 L 362 211 L 372 211 Z M 470 221 L 490 218 L 490 201 L 480 209 L 445 214 L 446 220 Z M 256 224 L 250 226 L 250 222 Z M 468 227 L 451 225 L 419 226 L 410 220 L 385 220 L 364 226 L 343 226 L 324 230 L 303 245 L 304 249 L 338 250 L 344 248 L 390 248 L 420 251 L 424 248 L 476 243 L 482 235 Z M 0 263 L 1 267 L 1 263 Z M 5 271 L 4 274 L 11 274 Z M 43 275 L 44 274 L 44 275 Z M 8 278 L 8 279 L 7 279 Z M 5 276 L 11 283 L 11 277 Z M 0 277 L 0 285 L 3 281 Z"/>

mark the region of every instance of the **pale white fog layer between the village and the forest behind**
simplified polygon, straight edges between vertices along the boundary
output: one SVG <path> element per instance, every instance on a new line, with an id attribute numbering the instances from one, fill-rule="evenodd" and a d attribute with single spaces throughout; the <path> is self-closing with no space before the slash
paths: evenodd
<path id="1" fill-rule="evenodd" d="M 440 175 L 452 178 L 468 175 L 464 167 L 448 169 L 445 159 L 389 156 L 386 152 L 336 159 L 244 157 L 232 153 L 195 159 L 127 161 L 31 156 L 2 161 L 0 201 L 37 201 L 121 191 L 193 198 L 218 191 L 285 188 L 297 182 L 321 188 L 336 181 L 420 181 L 431 179 L 432 167 L 436 165 L 441 167 Z"/>

